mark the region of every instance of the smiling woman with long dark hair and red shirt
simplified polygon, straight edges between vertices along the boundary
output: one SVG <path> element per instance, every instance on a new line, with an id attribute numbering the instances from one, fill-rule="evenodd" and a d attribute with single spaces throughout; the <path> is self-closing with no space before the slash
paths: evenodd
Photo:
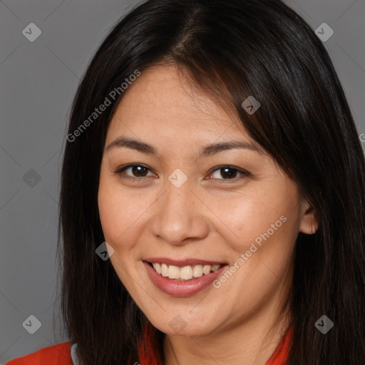
<path id="1" fill-rule="evenodd" d="M 73 102 L 70 341 L 23 361 L 363 364 L 364 186 L 344 91 L 292 9 L 140 4 Z"/>

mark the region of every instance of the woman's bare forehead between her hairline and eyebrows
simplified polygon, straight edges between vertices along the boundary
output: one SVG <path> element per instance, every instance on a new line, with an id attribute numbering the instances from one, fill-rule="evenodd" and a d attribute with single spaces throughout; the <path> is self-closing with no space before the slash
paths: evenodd
<path id="1" fill-rule="evenodd" d="M 198 89 L 174 65 L 153 66 L 128 86 L 108 128 L 108 139 L 123 132 L 153 138 L 242 137 L 250 140 L 236 115 Z M 201 140 L 201 138 L 198 138 Z"/>

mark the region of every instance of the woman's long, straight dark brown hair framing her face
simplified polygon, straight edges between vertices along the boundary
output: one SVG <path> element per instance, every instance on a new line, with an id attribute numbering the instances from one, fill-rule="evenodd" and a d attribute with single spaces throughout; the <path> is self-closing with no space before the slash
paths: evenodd
<path id="1" fill-rule="evenodd" d="M 175 63 L 233 110 L 317 212 L 317 232 L 299 232 L 296 242 L 288 364 L 363 365 L 364 154 L 322 41 L 279 0 L 145 1 L 88 66 L 68 125 L 58 230 L 62 315 L 82 364 L 134 364 L 138 343 L 163 361 L 164 334 L 155 329 L 145 342 L 147 319 L 110 260 L 96 255 L 105 241 L 97 196 L 108 124 L 125 78 L 156 63 Z M 115 100 L 91 119 L 115 88 Z M 261 104 L 252 115 L 241 106 L 248 96 Z M 327 334 L 314 326 L 324 314 L 334 323 Z"/>

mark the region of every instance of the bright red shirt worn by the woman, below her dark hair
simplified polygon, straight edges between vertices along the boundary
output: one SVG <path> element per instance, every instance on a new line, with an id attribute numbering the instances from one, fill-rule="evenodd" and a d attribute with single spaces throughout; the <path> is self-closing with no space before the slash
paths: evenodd
<path id="1" fill-rule="evenodd" d="M 265 365 L 284 365 L 289 354 L 289 344 L 292 338 L 293 327 L 290 328 L 279 343 L 274 354 Z M 44 347 L 33 354 L 11 360 L 5 365 L 73 365 L 71 360 L 71 343 L 63 342 Z"/>

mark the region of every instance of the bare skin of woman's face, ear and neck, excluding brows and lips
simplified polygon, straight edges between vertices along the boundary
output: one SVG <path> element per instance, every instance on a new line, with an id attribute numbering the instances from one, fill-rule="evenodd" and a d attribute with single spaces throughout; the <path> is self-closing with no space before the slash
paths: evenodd
<path id="1" fill-rule="evenodd" d="M 294 243 L 298 232 L 317 229 L 314 210 L 263 151 L 235 148 L 197 158 L 210 143 L 254 141 L 237 117 L 192 88 L 173 65 L 143 71 L 125 91 L 106 147 L 122 135 L 155 146 L 158 156 L 125 147 L 104 150 L 101 224 L 115 250 L 115 272 L 150 322 L 167 334 L 165 365 L 264 364 L 287 329 L 290 314 L 279 312 L 292 285 Z M 149 170 L 115 175 L 133 163 Z M 250 175 L 233 170 L 227 177 L 220 170 L 225 165 Z M 168 180 L 177 168 L 187 176 L 180 187 Z M 194 257 L 232 265 L 282 216 L 282 226 L 220 288 L 173 297 L 150 282 L 143 259 Z M 176 315 L 186 324 L 178 333 L 169 325 Z"/>

